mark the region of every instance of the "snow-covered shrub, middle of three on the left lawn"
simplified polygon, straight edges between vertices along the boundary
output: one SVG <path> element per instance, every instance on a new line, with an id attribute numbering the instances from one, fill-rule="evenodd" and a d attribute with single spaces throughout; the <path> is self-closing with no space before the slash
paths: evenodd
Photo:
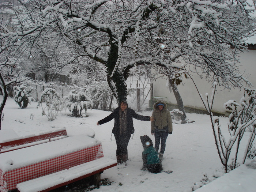
<path id="1" fill-rule="evenodd" d="M 45 105 L 44 105 L 45 103 Z M 56 119 L 58 112 L 62 109 L 60 94 L 55 89 L 46 88 L 40 97 L 38 107 L 42 106 L 42 115 L 45 115 L 49 121 Z M 47 109 L 47 114 L 45 110 Z"/>

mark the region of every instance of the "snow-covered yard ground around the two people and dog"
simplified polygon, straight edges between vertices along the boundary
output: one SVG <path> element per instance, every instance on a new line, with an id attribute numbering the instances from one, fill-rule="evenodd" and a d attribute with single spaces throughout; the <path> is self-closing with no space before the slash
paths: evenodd
<path id="1" fill-rule="evenodd" d="M 1 100 L 2 96 L 0 96 Z M 27 109 L 20 109 L 12 98 L 8 98 L 4 107 L 4 120 L 2 121 L 1 129 L 13 129 L 18 136 L 35 135 L 60 128 L 66 128 L 68 136 L 80 134 L 94 135 L 95 133 L 95 139 L 102 142 L 104 156 L 116 158 L 114 136 L 112 140 L 110 139 L 114 121 L 99 126 L 96 125 L 98 120 L 106 117 L 110 112 L 88 110 L 88 117 L 75 118 L 68 116 L 69 112 L 63 110 L 58 114 L 56 120 L 50 122 L 46 116 L 41 115 L 41 108 L 36 109 L 36 106 L 37 103 L 32 102 Z M 140 114 L 150 116 L 151 113 L 143 112 Z M 191 192 L 193 186 L 200 185 L 200 180 L 204 178 L 204 175 L 207 175 L 210 179 L 212 179 L 212 176 L 222 176 L 224 170 L 215 147 L 209 116 L 194 113 L 189 113 L 187 116 L 190 120 L 194 120 L 195 123 L 173 124 L 173 134 L 168 136 L 166 142 L 166 151 L 162 165 L 165 171 L 172 170 L 173 173 L 162 172 L 153 174 L 140 170 L 142 168 L 143 151 L 140 136 L 150 136 L 153 143 L 154 136 L 150 134 L 150 121 L 134 119 L 135 133 L 128 145 L 128 165 L 118 165 L 105 170 L 101 175 L 102 178 L 108 178 L 113 183 L 101 186 L 93 191 Z M 221 117 L 220 121 L 225 126 L 228 118 Z M 247 168 L 248 166 L 246 166 Z M 246 174 L 246 169 L 243 170 L 243 173 L 245 172 L 244 177 L 249 175 L 250 178 L 254 177 L 253 179 L 255 179 L 256 169 L 248 168 L 250 174 Z M 236 175 L 235 178 L 239 178 L 239 174 L 241 172 L 234 173 Z M 195 183 L 197 185 L 194 185 Z M 226 188 L 228 190 L 226 191 L 229 191 L 230 187 L 230 192 L 234 192 L 234 188 L 237 189 L 234 185 L 234 182 L 231 184 L 227 183 Z M 237 183 L 237 185 L 241 185 L 241 183 Z M 247 191 L 248 188 L 246 186 L 252 187 L 255 184 L 249 180 L 242 183 L 242 185 L 243 190 Z M 204 192 L 211 191 L 207 187 L 203 188 Z"/>

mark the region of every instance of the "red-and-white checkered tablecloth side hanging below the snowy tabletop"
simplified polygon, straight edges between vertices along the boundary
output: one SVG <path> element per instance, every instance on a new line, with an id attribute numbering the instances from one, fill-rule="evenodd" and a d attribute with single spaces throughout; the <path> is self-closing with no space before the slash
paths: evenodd
<path id="1" fill-rule="evenodd" d="M 18 169 L 3 172 L 0 169 L 0 192 L 7 192 L 15 189 L 18 183 L 45 176 L 54 172 L 59 172 L 69 167 L 80 165 L 89 161 L 103 157 L 101 144 L 84 148 L 74 153 L 55 157 L 47 161 L 35 163 L 33 165 L 20 167 Z"/>

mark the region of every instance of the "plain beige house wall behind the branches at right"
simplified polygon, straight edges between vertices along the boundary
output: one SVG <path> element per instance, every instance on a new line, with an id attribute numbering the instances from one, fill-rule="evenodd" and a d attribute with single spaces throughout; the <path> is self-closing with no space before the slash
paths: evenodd
<path id="1" fill-rule="evenodd" d="M 250 50 L 249 52 L 241 53 L 240 61 L 241 73 L 244 73 L 244 76 L 246 74 L 251 74 L 248 79 L 254 85 L 253 89 L 256 89 L 256 50 Z M 193 75 L 193 79 L 196 82 L 200 94 L 203 95 L 204 99 L 206 100 L 206 93 L 208 93 L 210 98 L 212 95 L 212 84 L 208 83 L 204 79 L 200 79 L 197 75 Z M 184 106 L 205 110 L 203 102 L 200 99 L 192 80 L 187 80 L 184 78 L 183 83 L 184 85 L 178 86 L 178 90 L 181 94 Z M 167 97 L 168 102 L 177 104 L 174 94 L 172 91 L 171 93 L 169 92 L 169 88 L 166 86 L 167 84 L 167 79 L 159 78 L 153 82 L 153 97 Z M 243 91 L 240 91 L 237 88 L 229 91 L 223 90 L 223 87 L 217 87 L 217 94 L 214 98 L 213 111 L 225 114 L 225 112 L 228 110 L 224 108 L 224 103 L 230 99 L 235 99 L 237 102 L 240 102 L 242 95 Z"/>

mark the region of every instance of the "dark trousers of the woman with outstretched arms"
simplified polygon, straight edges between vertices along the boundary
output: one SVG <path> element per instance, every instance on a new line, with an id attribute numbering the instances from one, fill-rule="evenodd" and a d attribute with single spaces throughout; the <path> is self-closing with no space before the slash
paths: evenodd
<path id="1" fill-rule="evenodd" d="M 128 143 L 131 138 L 129 135 L 114 135 L 116 139 L 116 155 L 127 155 L 128 154 Z"/>

